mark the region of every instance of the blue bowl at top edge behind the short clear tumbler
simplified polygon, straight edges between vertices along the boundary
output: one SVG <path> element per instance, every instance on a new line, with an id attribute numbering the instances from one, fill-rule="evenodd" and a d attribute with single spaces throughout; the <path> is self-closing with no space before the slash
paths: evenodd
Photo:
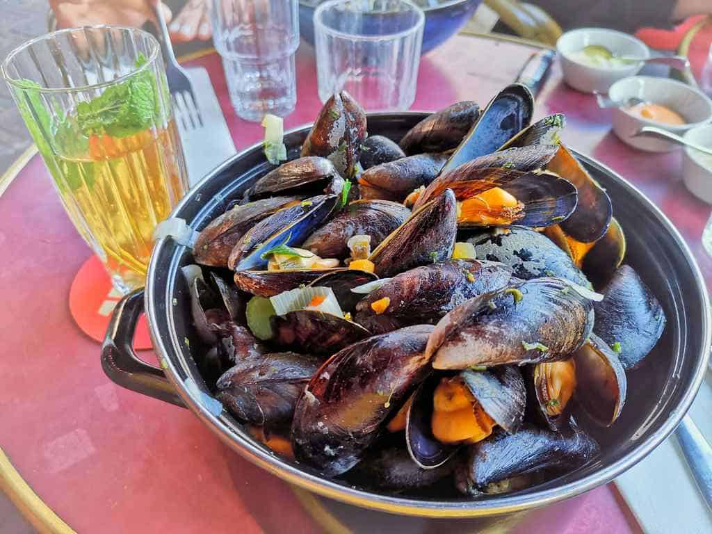
<path id="1" fill-rule="evenodd" d="M 299 31 L 311 46 L 314 46 L 314 10 L 320 3 L 315 0 L 299 2 Z M 482 0 L 441 0 L 439 6 L 423 8 L 425 26 L 420 53 L 427 53 L 454 36 L 481 3 Z"/>

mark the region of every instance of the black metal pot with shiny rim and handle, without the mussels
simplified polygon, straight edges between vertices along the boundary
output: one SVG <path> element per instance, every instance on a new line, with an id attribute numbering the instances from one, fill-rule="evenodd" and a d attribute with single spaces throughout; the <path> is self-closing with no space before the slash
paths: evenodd
<path id="1" fill-rule="evenodd" d="M 382 113 L 368 117 L 369 132 L 399 140 L 425 116 L 419 112 Z M 296 157 L 309 128 L 286 134 L 290 157 Z M 635 187 L 593 159 L 577 155 L 613 201 L 614 214 L 627 234 L 626 263 L 632 265 L 660 300 L 667 326 L 646 364 L 633 372 L 622 416 L 595 438 L 602 456 L 585 468 L 542 486 L 479 501 L 404 498 L 354 489 L 271 454 L 222 410 L 201 379 L 190 354 L 195 341 L 189 294 L 179 268 L 192 253 L 172 239 L 159 239 L 151 257 L 145 290 L 127 295 L 117 306 L 102 350 L 107 375 L 117 384 L 179 406 L 189 407 L 228 446 L 290 483 L 346 503 L 392 513 L 430 517 L 499 515 L 543 506 L 607 483 L 658 446 L 689 409 L 707 366 L 711 315 L 698 267 L 670 221 Z M 271 166 L 261 145 L 241 152 L 214 169 L 194 187 L 172 216 L 202 229 L 221 214 Z M 133 331 L 144 310 L 155 352 L 163 369 L 139 360 L 131 348 Z M 186 342 L 188 340 L 188 342 Z"/>

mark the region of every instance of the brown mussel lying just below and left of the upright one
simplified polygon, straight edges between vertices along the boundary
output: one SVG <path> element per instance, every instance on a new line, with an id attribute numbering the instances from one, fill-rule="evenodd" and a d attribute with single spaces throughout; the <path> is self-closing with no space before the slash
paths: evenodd
<path id="1" fill-rule="evenodd" d="M 246 197 L 258 199 L 273 194 L 340 194 L 344 180 L 334 164 L 324 157 L 306 156 L 281 164 L 258 179 Z"/>

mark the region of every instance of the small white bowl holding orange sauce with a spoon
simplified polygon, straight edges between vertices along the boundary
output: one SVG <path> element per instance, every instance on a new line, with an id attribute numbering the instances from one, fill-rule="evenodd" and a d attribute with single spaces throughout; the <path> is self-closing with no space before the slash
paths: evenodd
<path id="1" fill-rule="evenodd" d="M 680 145 L 653 137 L 633 137 L 643 126 L 656 126 L 683 135 L 698 125 L 712 119 L 712 101 L 700 90 L 669 78 L 651 76 L 631 76 L 614 83 L 608 96 L 615 102 L 624 102 L 637 97 L 645 102 L 664 105 L 678 112 L 687 121 L 684 125 L 669 125 L 664 122 L 647 120 L 624 108 L 613 108 L 613 131 L 622 142 L 647 152 L 670 152 Z"/>

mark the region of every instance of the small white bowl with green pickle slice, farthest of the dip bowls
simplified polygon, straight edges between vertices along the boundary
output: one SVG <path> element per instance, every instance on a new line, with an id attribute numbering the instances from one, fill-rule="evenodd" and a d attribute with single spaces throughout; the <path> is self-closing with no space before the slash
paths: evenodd
<path id="1" fill-rule="evenodd" d="M 621 31 L 605 28 L 580 28 L 567 31 L 556 41 L 561 70 L 566 83 L 584 93 L 607 93 L 611 85 L 622 78 L 636 75 L 643 67 L 642 62 L 607 68 L 592 67 L 576 61 L 575 53 L 589 45 L 605 46 L 616 56 L 650 57 L 650 51 L 642 41 Z"/>

